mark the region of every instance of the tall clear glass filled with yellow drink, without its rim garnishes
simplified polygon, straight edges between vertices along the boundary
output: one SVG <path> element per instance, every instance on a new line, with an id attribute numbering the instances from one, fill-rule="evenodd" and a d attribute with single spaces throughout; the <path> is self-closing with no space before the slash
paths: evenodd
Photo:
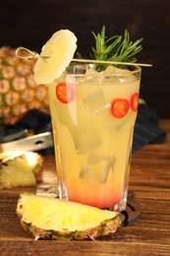
<path id="1" fill-rule="evenodd" d="M 141 73 L 73 63 L 49 85 L 59 198 L 126 208 Z"/>

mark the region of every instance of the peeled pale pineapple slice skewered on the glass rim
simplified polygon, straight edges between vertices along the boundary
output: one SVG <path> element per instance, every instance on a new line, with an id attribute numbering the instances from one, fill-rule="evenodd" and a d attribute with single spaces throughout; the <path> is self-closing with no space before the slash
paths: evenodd
<path id="1" fill-rule="evenodd" d="M 34 65 L 34 80 L 37 84 L 50 84 L 59 78 L 73 59 L 77 37 L 69 30 L 54 32 L 43 45 Z"/>

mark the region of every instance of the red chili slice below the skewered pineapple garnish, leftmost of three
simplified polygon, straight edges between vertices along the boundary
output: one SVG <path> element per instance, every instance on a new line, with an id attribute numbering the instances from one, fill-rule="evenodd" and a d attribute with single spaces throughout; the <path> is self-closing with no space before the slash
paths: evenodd
<path id="1" fill-rule="evenodd" d="M 75 85 L 71 83 L 59 83 L 56 86 L 56 96 L 62 103 L 69 103 L 75 98 Z"/>

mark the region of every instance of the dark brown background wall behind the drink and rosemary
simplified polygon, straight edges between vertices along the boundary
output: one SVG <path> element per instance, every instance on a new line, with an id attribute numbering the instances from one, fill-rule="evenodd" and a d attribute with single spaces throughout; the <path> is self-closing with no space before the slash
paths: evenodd
<path id="1" fill-rule="evenodd" d="M 107 34 L 125 29 L 132 40 L 143 37 L 138 60 L 142 69 L 141 96 L 160 117 L 170 117 L 169 0 L 1 0 L 0 46 L 26 46 L 40 51 L 53 32 L 69 29 L 79 38 L 79 51 L 88 57 L 91 32 L 102 25 Z"/>

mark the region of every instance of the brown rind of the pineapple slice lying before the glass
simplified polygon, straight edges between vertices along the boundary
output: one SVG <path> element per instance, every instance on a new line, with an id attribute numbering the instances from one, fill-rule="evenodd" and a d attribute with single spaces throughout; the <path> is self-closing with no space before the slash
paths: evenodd
<path id="1" fill-rule="evenodd" d="M 25 206 L 22 205 L 22 202 L 21 202 L 22 197 L 23 197 L 23 194 L 21 194 L 21 197 L 18 201 L 16 213 L 21 220 L 21 225 L 23 226 L 23 228 L 26 231 L 30 232 L 34 236 L 35 240 L 38 240 L 38 239 L 41 239 L 41 240 L 94 240 L 97 237 L 116 232 L 116 230 L 121 225 L 120 214 L 116 213 L 114 218 L 105 220 L 104 222 L 101 222 L 96 226 L 87 228 L 85 230 L 77 229 L 77 230 L 71 231 L 64 227 L 62 230 L 54 230 L 51 228 L 49 229 L 41 228 L 39 226 L 35 226 L 32 223 L 26 222 L 25 219 L 23 218 L 21 209 L 23 209 Z"/>

